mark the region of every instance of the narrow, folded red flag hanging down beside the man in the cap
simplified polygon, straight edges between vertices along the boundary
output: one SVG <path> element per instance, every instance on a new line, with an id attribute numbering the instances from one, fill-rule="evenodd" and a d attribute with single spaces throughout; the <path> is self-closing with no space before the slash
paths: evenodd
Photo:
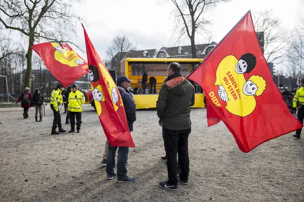
<path id="1" fill-rule="evenodd" d="M 83 28 L 93 98 L 104 133 L 111 146 L 135 147 L 121 94 Z"/>

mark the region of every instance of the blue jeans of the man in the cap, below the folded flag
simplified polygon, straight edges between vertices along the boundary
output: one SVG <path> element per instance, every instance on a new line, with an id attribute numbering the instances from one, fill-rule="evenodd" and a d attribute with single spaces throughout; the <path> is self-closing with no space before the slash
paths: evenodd
<path id="1" fill-rule="evenodd" d="M 124 179 L 125 177 L 127 177 L 126 163 L 128 160 L 129 147 L 109 145 L 105 171 L 108 176 L 111 176 L 113 173 L 115 173 L 114 167 L 115 167 L 115 155 L 117 148 L 118 148 L 117 178 Z"/>

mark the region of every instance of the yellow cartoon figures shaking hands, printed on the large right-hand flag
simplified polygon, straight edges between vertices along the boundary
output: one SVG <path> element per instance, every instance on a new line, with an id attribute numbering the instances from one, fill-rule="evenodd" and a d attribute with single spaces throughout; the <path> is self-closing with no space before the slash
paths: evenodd
<path id="1" fill-rule="evenodd" d="M 255 96 L 266 89 L 266 81 L 259 75 L 252 75 L 247 81 L 244 73 L 249 73 L 255 67 L 255 57 L 244 54 L 240 60 L 235 56 L 226 56 L 216 70 L 218 97 L 226 102 L 225 109 L 230 113 L 245 117 L 250 115 L 255 107 Z M 220 106 L 218 106 L 220 107 Z"/>

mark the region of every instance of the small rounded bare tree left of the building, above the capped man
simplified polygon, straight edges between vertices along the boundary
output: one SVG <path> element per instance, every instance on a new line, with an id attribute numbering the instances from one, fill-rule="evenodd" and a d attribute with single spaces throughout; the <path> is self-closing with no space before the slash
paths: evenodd
<path id="1" fill-rule="evenodd" d="M 131 49 L 132 43 L 126 35 L 115 36 L 107 48 L 106 55 L 110 60 L 110 69 L 116 70 L 117 76 L 120 74 L 120 62 Z"/>

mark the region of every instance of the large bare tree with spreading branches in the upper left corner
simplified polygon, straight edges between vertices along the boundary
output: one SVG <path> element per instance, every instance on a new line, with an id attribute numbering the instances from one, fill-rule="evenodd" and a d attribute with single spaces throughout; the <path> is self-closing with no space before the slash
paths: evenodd
<path id="1" fill-rule="evenodd" d="M 76 1 L 76 0 L 74 0 Z M 0 22 L 7 29 L 19 31 L 28 38 L 25 86 L 30 86 L 32 51 L 35 40 L 70 42 L 80 18 L 74 15 L 73 1 L 68 0 L 0 0 Z"/>

